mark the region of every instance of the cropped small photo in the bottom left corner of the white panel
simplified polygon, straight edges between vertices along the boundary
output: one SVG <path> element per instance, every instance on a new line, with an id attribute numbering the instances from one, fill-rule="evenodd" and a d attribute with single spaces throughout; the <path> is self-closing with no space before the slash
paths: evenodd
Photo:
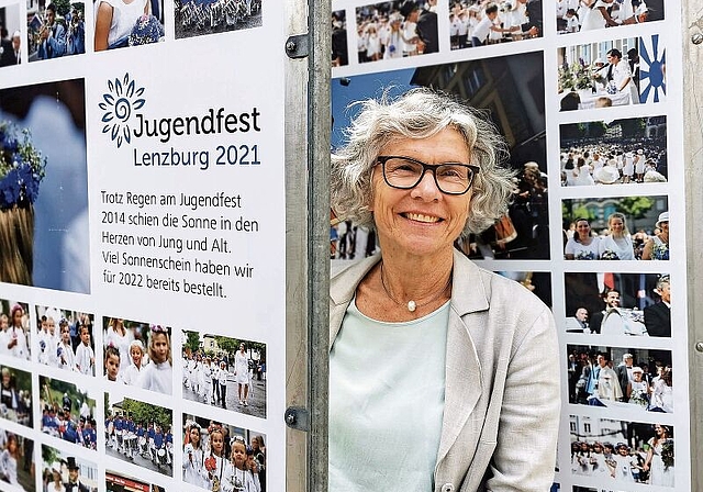
<path id="1" fill-rule="evenodd" d="M 34 485 L 34 441 L 0 427 L 0 488 L 2 483 L 33 492 Z"/>

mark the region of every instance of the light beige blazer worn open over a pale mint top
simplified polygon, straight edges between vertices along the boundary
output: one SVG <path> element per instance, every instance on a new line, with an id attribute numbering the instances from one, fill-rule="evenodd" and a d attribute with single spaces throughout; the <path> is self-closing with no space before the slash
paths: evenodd
<path id="1" fill-rule="evenodd" d="M 333 277 L 331 348 L 358 283 L 379 259 Z M 521 284 L 455 250 L 446 364 L 434 491 L 547 492 L 561 406 L 549 309 Z"/>

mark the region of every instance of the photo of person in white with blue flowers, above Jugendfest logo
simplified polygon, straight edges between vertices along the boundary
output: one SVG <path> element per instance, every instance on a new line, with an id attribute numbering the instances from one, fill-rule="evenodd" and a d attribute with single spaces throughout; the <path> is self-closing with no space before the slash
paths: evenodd
<path id="1" fill-rule="evenodd" d="M 94 51 L 124 48 L 165 40 L 164 0 L 93 0 Z"/>

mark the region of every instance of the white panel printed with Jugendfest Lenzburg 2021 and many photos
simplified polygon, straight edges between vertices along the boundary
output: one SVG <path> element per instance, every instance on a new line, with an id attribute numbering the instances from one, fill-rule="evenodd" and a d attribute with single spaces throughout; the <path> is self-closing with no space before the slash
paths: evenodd
<path id="1" fill-rule="evenodd" d="M 282 491 L 283 10 L 0 24 L 0 489 Z"/>

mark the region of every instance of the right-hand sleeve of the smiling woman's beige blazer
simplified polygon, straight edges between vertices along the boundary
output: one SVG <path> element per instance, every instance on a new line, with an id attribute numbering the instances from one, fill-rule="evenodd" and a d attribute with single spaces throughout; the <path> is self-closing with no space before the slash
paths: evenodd
<path id="1" fill-rule="evenodd" d="M 551 487 L 561 410 L 559 368 L 555 321 L 544 306 L 523 338 L 514 340 L 487 490 L 545 492 Z"/>

